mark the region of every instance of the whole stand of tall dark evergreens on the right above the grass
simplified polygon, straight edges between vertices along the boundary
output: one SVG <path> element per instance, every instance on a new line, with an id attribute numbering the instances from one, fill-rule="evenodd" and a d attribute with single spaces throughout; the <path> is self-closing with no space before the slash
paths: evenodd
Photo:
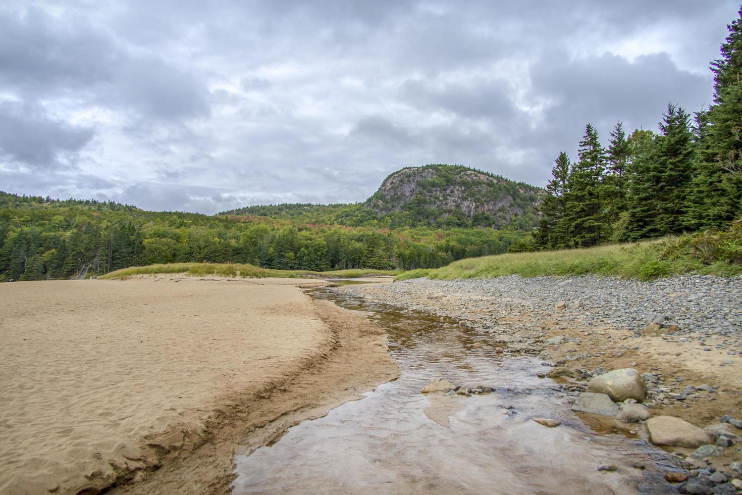
<path id="1" fill-rule="evenodd" d="M 659 131 L 628 136 L 618 122 L 608 147 L 588 124 L 577 160 L 554 160 L 531 249 L 723 229 L 742 217 L 742 8 L 712 62 L 714 104 L 692 117 L 670 103 Z M 516 245 L 523 249 L 522 244 Z"/>

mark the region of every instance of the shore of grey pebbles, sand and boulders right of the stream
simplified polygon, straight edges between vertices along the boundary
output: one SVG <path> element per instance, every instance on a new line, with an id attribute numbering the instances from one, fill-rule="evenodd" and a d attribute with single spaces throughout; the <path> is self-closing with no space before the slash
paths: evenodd
<path id="1" fill-rule="evenodd" d="M 585 422 L 674 453 L 666 479 L 680 493 L 742 490 L 741 278 L 513 276 L 338 290 L 455 318 L 481 335 L 472 347 L 541 359 L 539 376 L 557 381 Z"/>

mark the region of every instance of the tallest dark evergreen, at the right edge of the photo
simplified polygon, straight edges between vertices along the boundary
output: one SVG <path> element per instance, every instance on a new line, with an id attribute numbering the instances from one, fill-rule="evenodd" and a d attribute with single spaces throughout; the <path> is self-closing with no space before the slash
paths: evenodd
<path id="1" fill-rule="evenodd" d="M 742 215 L 742 7 L 712 62 L 714 102 L 697 116 L 698 166 L 686 225 L 725 226 Z"/>

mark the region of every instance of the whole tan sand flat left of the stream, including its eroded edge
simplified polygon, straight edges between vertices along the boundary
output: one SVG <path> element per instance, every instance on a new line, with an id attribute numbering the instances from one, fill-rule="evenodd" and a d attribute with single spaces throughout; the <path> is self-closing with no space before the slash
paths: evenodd
<path id="1" fill-rule="evenodd" d="M 226 493 L 232 455 L 394 378 L 303 280 L 0 284 L 0 493 Z"/>

